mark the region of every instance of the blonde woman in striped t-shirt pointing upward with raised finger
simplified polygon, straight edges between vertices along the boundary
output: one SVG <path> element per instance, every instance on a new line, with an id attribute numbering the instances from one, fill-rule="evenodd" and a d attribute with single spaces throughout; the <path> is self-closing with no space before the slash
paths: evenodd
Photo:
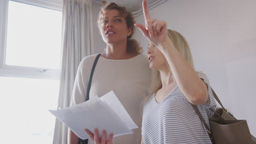
<path id="1" fill-rule="evenodd" d="M 187 40 L 165 21 L 150 19 L 146 0 L 143 12 L 146 27 L 136 26 L 149 40 L 149 67 L 157 73 L 143 103 L 141 143 L 212 143 L 191 106 L 205 120 L 216 109 L 207 76 L 194 70 Z"/>

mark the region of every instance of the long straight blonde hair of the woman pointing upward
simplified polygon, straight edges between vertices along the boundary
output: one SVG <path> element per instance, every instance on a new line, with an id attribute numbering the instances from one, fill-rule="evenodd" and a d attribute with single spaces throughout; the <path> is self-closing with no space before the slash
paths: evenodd
<path id="1" fill-rule="evenodd" d="M 182 34 L 168 29 L 167 32 L 168 38 L 171 39 L 172 44 L 178 50 L 179 53 L 187 60 L 187 62 L 194 68 L 193 58 L 191 55 L 191 51 L 188 45 L 188 41 L 183 37 Z M 174 78 L 174 77 L 173 77 Z M 158 70 L 153 70 L 152 73 L 152 83 L 149 89 L 149 95 L 146 97 L 146 100 L 157 92 L 160 88 L 162 88 L 161 76 Z"/>

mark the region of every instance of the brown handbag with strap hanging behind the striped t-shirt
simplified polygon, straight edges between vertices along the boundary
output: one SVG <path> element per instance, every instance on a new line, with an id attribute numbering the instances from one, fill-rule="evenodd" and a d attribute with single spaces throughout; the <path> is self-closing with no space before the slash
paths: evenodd
<path id="1" fill-rule="evenodd" d="M 196 105 L 192 105 L 207 130 L 212 143 L 214 144 L 256 144 L 256 139 L 251 135 L 246 120 L 237 120 L 227 109 L 224 108 L 216 93 L 212 89 L 214 98 L 222 106 L 210 117 L 210 128 L 203 119 Z"/>

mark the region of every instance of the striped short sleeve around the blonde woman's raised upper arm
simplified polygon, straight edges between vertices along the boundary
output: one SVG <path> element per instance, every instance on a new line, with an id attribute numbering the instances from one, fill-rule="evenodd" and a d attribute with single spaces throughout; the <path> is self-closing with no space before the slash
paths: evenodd
<path id="1" fill-rule="evenodd" d="M 201 72 L 197 72 L 197 75 L 200 77 L 200 79 L 202 79 L 206 85 L 207 85 L 207 89 L 208 89 L 208 100 L 206 102 L 206 104 L 203 104 L 203 105 L 198 105 L 199 106 L 199 109 L 205 109 L 205 110 L 210 110 L 213 109 L 215 110 L 216 109 L 216 101 L 215 101 L 215 98 L 213 97 L 213 93 L 212 93 L 212 88 L 210 86 L 210 81 L 208 79 L 208 77 L 201 73 Z M 209 113 L 212 113 L 209 111 Z"/>

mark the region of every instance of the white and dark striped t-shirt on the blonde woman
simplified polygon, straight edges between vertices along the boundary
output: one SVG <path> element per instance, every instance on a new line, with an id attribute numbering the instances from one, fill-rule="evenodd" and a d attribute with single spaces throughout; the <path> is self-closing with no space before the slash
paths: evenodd
<path id="1" fill-rule="evenodd" d="M 197 73 L 210 87 L 205 74 Z M 216 101 L 211 88 L 208 88 L 208 101 L 197 105 L 201 115 L 209 125 L 208 118 L 216 109 Z M 153 94 L 143 104 L 142 135 L 144 143 L 212 143 L 199 116 L 185 98 L 178 86 L 161 103 L 156 102 Z"/>

